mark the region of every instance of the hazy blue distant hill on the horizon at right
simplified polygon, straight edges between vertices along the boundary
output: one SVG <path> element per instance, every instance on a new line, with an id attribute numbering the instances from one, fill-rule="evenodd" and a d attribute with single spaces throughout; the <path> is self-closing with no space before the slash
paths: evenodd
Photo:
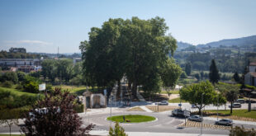
<path id="1" fill-rule="evenodd" d="M 224 46 L 236 45 L 239 47 L 256 46 L 256 35 L 242 37 L 242 38 L 236 38 L 236 39 L 214 41 L 214 42 L 211 42 L 211 43 L 208 43 L 205 45 L 197 45 L 197 48 L 203 48 L 203 47 L 209 47 L 209 46 L 220 47 L 220 45 L 224 45 Z"/>

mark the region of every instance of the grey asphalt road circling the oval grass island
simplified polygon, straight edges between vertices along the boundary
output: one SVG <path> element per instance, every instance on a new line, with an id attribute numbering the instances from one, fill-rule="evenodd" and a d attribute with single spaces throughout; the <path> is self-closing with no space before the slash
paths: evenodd
<path id="1" fill-rule="evenodd" d="M 184 133 L 184 134 L 200 134 L 200 128 L 179 128 L 178 124 L 182 124 L 184 119 L 178 119 L 167 113 L 148 113 L 139 111 L 120 112 L 113 115 L 151 115 L 157 118 L 152 122 L 139 124 L 123 124 L 121 126 L 131 132 L 157 132 L 157 133 Z M 84 124 L 96 124 L 95 130 L 108 130 L 114 123 L 106 120 L 110 114 L 99 115 L 83 115 Z M 203 134 L 229 134 L 229 130 L 224 129 L 203 129 Z"/>

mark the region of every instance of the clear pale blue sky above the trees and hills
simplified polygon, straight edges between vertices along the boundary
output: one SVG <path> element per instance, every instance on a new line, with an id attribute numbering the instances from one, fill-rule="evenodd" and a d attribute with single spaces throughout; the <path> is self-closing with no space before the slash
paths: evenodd
<path id="1" fill-rule="evenodd" d="M 254 0 L 0 0 L 0 50 L 74 53 L 91 27 L 109 18 L 164 17 L 178 41 L 193 45 L 256 35 Z"/>

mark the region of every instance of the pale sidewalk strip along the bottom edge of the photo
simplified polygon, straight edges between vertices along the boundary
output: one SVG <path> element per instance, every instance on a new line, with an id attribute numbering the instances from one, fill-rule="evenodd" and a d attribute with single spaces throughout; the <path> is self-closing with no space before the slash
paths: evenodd
<path id="1" fill-rule="evenodd" d="M 108 131 L 90 131 L 92 135 L 107 136 Z M 154 132 L 126 132 L 129 136 L 198 136 L 200 134 L 179 134 L 179 133 L 154 133 Z M 226 136 L 220 134 L 202 134 L 204 136 Z"/>

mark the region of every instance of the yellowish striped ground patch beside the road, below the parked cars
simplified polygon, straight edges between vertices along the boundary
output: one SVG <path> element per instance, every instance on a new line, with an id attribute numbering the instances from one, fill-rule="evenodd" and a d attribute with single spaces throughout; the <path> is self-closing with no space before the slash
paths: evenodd
<path id="1" fill-rule="evenodd" d="M 178 127 L 196 127 L 201 128 L 201 122 L 189 121 L 187 123 L 179 124 Z M 203 128 L 207 129 L 231 129 L 231 126 L 217 125 L 217 124 L 202 124 Z"/>

